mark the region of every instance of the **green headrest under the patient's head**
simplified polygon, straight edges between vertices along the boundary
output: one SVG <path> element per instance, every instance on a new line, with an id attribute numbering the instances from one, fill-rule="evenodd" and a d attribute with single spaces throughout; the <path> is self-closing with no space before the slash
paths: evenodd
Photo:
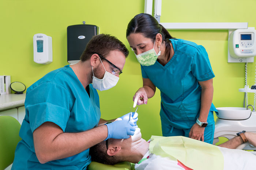
<path id="1" fill-rule="evenodd" d="M 134 170 L 134 164 L 130 162 L 120 162 L 115 165 L 105 165 L 98 162 L 91 162 L 88 170 Z"/>

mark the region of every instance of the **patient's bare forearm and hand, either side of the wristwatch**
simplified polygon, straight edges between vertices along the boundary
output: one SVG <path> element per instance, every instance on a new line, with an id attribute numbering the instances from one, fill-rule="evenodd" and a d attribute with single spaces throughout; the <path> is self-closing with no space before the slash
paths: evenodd
<path id="1" fill-rule="evenodd" d="M 256 146 L 256 133 L 245 132 L 244 135 L 250 144 L 252 144 L 253 146 Z M 218 146 L 226 147 L 229 149 L 236 149 L 242 143 L 244 143 L 242 138 L 240 136 L 237 136 L 237 137 L 234 137 L 234 138 L 230 139 L 229 141 L 222 143 L 221 145 L 218 145 Z"/>

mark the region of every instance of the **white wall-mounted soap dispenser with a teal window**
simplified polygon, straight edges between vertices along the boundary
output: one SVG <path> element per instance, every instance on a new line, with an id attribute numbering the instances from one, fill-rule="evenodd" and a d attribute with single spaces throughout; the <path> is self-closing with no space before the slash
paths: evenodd
<path id="1" fill-rule="evenodd" d="M 37 33 L 33 37 L 34 62 L 49 64 L 52 62 L 52 37 Z"/>

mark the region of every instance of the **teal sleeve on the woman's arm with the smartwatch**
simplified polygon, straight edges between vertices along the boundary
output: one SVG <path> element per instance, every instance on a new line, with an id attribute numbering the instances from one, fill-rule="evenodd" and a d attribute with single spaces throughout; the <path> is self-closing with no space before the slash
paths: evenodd
<path id="1" fill-rule="evenodd" d="M 195 52 L 191 71 L 199 82 L 210 80 L 215 77 L 208 54 L 203 46 L 199 46 Z"/>

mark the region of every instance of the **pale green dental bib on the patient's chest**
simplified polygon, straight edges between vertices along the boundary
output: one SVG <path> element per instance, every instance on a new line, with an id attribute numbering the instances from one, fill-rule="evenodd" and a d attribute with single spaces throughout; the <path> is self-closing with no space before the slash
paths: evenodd
<path id="1" fill-rule="evenodd" d="M 155 155 L 179 160 L 194 170 L 223 170 L 224 158 L 217 146 L 195 139 L 151 136 L 149 150 Z"/>

